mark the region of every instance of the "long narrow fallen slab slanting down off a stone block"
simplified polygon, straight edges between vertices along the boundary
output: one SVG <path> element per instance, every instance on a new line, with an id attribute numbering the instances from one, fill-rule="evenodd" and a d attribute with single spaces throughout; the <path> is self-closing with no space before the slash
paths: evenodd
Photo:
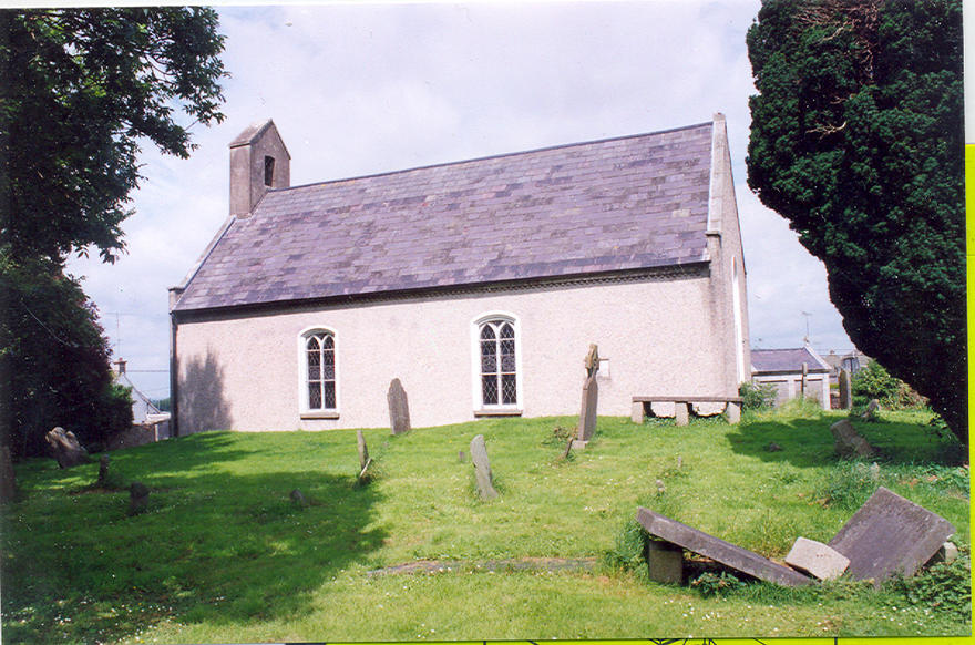
<path id="1" fill-rule="evenodd" d="M 747 549 L 736 546 L 714 535 L 708 535 L 704 531 L 691 529 L 687 524 L 681 524 L 649 509 L 639 506 L 636 520 L 650 535 L 682 546 L 688 551 L 706 555 L 726 566 L 759 580 L 784 586 L 799 586 L 812 582 L 812 579 L 802 575 L 793 569 L 777 564 L 758 553 L 752 553 Z"/>

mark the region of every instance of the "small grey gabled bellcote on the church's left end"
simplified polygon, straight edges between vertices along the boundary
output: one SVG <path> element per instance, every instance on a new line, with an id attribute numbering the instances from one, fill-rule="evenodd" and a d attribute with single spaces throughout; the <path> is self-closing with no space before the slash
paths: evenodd
<path id="1" fill-rule="evenodd" d="M 248 217 L 270 188 L 287 188 L 290 162 L 274 121 L 248 125 L 230 142 L 230 215 Z"/>

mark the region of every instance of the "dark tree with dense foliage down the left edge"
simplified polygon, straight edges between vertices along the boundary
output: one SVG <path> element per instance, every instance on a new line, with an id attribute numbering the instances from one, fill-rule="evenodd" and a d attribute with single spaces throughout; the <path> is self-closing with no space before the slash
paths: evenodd
<path id="1" fill-rule="evenodd" d="M 216 30 L 205 8 L 0 11 L 0 441 L 16 452 L 55 422 L 95 440 L 121 408 L 64 260 L 124 252 L 141 145 L 186 157 L 192 125 L 224 119 Z"/>

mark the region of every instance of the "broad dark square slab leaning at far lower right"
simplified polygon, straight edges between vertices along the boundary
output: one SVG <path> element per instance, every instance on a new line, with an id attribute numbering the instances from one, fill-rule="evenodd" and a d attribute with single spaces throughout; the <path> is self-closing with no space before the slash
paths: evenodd
<path id="1" fill-rule="evenodd" d="M 880 586 L 896 573 L 913 575 L 954 532 L 941 515 L 880 487 L 830 546 L 850 559 L 853 579 Z"/>

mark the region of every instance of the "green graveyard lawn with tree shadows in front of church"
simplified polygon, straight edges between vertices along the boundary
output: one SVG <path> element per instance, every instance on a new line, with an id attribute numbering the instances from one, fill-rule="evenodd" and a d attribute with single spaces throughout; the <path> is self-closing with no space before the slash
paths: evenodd
<path id="1" fill-rule="evenodd" d="M 828 542 L 885 485 L 952 522 L 967 566 L 968 471 L 947 464 L 927 417 L 854 423 L 885 453 L 876 475 L 833 455 L 829 426 L 838 418 L 807 410 L 685 428 L 601 418 L 595 440 L 568 461 L 555 429 L 574 427 L 574 418 L 482 420 L 399 437 L 366 430 L 376 459 L 368 485 L 356 483 L 351 430 L 201 433 L 111 454 L 120 485 L 141 481 L 152 491 L 133 516 L 126 491 L 92 488 L 98 463 L 62 471 L 30 460 L 17 464 L 20 499 L 2 510 L 3 639 L 969 634 L 967 588 L 933 575 L 920 588 L 751 583 L 705 596 L 700 585 L 656 584 L 642 566 L 618 565 L 635 560 L 627 528 L 638 504 L 781 559 L 800 535 Z M 490 502 L 478 500 L 470 459 L 458 457 L 478 433 L 501 492 Z M 770 442 L 782 450 L 767 451 Z M 289 499 L 294 489 L 307 508 Z M 554 573 L 478 567 L 523 557 L 599 564 Z M 367 575 L 417 560 L 461 564 Z"/>

